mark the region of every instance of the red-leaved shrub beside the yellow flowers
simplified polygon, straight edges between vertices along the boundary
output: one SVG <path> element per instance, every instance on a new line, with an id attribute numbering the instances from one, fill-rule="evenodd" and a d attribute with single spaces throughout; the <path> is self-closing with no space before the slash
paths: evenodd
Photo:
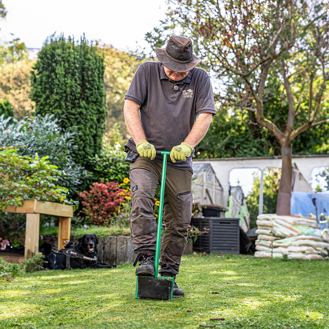
<path id="1" fill-rule="evenodd" d="M 82 211 L 85 222 L 94 225 L 109 225 L 112 216 L 118 211 L 122 200 L 122 190 L 118 183 L 101 181 L 93 183 L 90 190 L 78 193 L 83 199 Z"/>

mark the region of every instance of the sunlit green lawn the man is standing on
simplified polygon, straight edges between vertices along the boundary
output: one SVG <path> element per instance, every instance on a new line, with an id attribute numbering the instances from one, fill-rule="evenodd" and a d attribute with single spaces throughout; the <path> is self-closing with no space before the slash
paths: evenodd
<path id="1" fill-rule="evenodd" d="M 135 299 L 135 268 L 40 271 L 0 284 L 0 328 L 329 328 L 328 262 L 188 255 L 184 298 Z M 212 292 L 218 293 L 212 293 Z M 210 318 L 224 317 L 212 321 Z"/>

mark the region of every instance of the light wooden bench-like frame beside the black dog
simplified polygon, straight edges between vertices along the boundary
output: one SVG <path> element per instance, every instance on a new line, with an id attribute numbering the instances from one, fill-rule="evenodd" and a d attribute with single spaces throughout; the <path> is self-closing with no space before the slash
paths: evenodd
<path id="1" fill-rule="evenodd" d="M 39 252 L 40 214 L 59 217 L 58 250 L 64 248 L 66 240 L 70 240 L 73 206 L 48 201 L 28 200 L 24 201 L 21 207 L 9 206 L 4 211 L 26 213 L 25 258 L 31 258 Z"/>

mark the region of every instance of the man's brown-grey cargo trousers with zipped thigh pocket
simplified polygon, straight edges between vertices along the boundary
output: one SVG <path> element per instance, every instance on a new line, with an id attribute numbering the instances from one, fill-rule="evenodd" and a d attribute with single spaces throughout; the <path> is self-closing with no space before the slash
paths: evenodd
<path id="1" fill-rule="evenodd" d="M 192 215 L 192 170 L 167 165 L 163 221 L 164 236 L 160 249 L 159 273 L 176 277 L 187 244 Z M 155 252 L 157 221 L 153 209 L 155 192 L 161 184 L 162 163 L 138 157 L 130 164 L 131 241 L 134 252 Z M 157 275 L 157 273 L 156 273 Z"/>

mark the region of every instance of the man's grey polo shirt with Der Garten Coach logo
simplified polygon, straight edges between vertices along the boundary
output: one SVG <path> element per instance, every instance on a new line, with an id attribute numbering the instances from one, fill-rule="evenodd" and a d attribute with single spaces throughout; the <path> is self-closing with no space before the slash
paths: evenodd
<path id="1" fill-rule="evenodd" d="M 175 90 L 174 86 L 178 89 Z M 214 94 L 208 73 L 199 67 L 193 68 L 178 82 L 172 81 L 160 62 L 146 61 L 136 70 L 125 99 L 140 105 L 139 115 L 146 140 L 156 150 L 171 151 L 190 133 L 200 113 L 216 114 Z M 126 146 L 136 151 L 132 138 Z M 177 160 L 168 165 L 179 169 L 192 169 L 192 155 L 186 161 Z M 155 161 L 162 161 L 156 156 Z"/>

